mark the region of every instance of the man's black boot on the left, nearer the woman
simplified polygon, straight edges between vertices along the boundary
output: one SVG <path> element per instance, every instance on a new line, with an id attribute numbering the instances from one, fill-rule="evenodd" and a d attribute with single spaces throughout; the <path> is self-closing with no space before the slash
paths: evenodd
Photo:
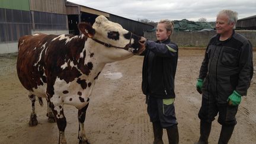
<path id="1" fill-rule="evenodd" d="M 210 135 L 210 130 L 212 128 L 212 123 L 207 121 L 200 121 L 200 137 L 196 144 L 208 144 L 208 138 Z"/>

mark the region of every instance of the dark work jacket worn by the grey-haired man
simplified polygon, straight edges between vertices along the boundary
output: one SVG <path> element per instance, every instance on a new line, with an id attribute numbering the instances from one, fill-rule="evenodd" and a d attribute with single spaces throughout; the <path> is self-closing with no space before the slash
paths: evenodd
<path id="1" fill-rule="evenodd" d="M 204 80 L 204 98 L 213 96 L 218 103 L 227 103 L 234 90 L 247 95 L 253 74 L 252 45 L 235 31 L 228 40 L 219 37 L 216 34 L 207 46 L 199 78 Z"/>

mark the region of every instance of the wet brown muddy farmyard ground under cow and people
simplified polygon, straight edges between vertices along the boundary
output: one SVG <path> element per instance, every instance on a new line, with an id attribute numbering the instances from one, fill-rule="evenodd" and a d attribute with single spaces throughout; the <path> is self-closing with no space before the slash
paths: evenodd
<path id="1" fill-rule="evenodd" d="M 196 91 L 204 50 L 180 49 L 175 78 L 175 111 L 180 143 L 194 143 L 199 138 L 197 117 L 201 96 Z M 254 52 L 254 68 L 256 66 Z M 31 104 L 28 92 L 16 73 L 16 56 L 0 56 L 0 143 L 57 143 L 56 123 L 48 123 L 47 105 L 36 103 L 38 126 L 29 127 Z M 109 63 L 98 78 L 85 120 L 86 134 L 91 143 L 152 143 L 152 124 L 146 113 L 145 96 L 141 91 L 142 56 Z M 252 78 L 248 96 L 239 106 L 238 124 L 230 143 L 256 143 L 256 78 Z M 77 110 L 65 105 L 65 130 L 68 143 L 78 143 Z M 217 143 L 220 125 L 215 120 L 209 143 Z M 167 134 L 164 131 L 164 142 Z"/>

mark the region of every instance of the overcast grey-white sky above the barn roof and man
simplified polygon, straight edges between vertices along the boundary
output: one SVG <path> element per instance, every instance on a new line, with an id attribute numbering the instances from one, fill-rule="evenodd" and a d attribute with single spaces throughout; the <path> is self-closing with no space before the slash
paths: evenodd
<path id="1" fill-rule="evenodd" d="M 222 9 L 238 12 L 238 19 L 256 15 L 255 0 L 68 0 L 132 20 L 161 19 L 192 20 L 206 18 L 215 21 Z"/>

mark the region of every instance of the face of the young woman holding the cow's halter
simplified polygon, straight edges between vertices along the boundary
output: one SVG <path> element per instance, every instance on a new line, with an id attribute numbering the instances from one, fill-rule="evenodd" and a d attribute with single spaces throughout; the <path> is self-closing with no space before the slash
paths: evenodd
<path id="1" fill-rule="evenodd" d="M 169 38 L 171 31 L 167 31 L 165 28 L 166 24 L 159 23 L 156 27 L 156 39 L 159 41 L 164 41 Z"/>

